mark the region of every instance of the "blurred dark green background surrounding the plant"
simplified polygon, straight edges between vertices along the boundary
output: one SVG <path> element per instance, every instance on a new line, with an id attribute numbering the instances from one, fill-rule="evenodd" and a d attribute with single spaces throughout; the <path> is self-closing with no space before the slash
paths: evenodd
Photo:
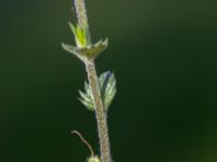
<path id="1" fill-rule="evenodd" d="M 217 161 L 217 10 L 207 0 L 86 0 L 92 40 L 110 39 L 108 112 L 116 162 Z M 85 162 L 99 152 L 94 114 L 77 99 L 84 65 L 72 0 L 0 0 L 0 161 Z M 99 153 L 98 153 L 99 154 Z"/>

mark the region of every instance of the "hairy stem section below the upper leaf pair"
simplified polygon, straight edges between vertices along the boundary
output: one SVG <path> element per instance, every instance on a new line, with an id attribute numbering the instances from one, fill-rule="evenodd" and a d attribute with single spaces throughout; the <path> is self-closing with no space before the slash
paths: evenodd
<path id="1" fill-rule="evenodd" d="M 106 111 L 104 110 L 102 97 L 99 91 L 100 89 L 98 83 L 94 60 L 87 60 L 85 65 L 88 73 L 88 81 L 94 100 L 95 117 L 98 122 L 98 134 L 100 138 L 101 160 L 102 162 L 112 162 L 107 122 L 106 122 Z"/>

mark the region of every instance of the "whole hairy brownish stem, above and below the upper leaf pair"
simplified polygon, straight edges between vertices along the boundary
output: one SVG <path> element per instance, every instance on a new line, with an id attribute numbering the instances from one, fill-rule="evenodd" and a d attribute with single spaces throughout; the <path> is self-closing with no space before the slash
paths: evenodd
<path id="1" fill-rule="evenodd" d="M 78 25 L 82 29 L 88 29 L 88 17 L 85 8 L 85 0 L 75 0 L 76 13 L 78 18 Z M 87 37 L 87 36 L 86 36 Z M 87 38 L 86 38 L 87 39 Z M 90 39 L 90 38 L 89 38 Z M 98 123 L 98 135 L 100 138 L 100 151 L 102 162 L 112 162 L 111 150 L 110 150 L 110 139 L 107 133 L 106 123 L 106 110 L 104 109 L 102 97 L 100 94 L 100 87 L 98 82 L 98 76 L 94 67 L 93 59 L 84 59 L 86 65 L 86 70 L 88 73 L 88 81 L 92 92 L 94 110 Z"/>

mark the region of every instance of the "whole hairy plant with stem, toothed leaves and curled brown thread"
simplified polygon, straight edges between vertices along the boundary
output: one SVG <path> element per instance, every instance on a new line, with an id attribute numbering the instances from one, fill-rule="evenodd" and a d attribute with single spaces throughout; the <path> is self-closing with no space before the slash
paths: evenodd
<path id="1" fill-rule="evenodd" d="M 79 91 L 79 100 L 85 107 L 95 113 L 101 153 L 100 158 L 91 153 L 88 162 L 112 162 L 106 116 L 116 94 L 116 80 L 111 71 L 106 71 L 98 77 L 94 65 L 95 58 L 107 48 L 108 41 L 105 39 L 92 43 L 85 1 L 75 0 L 74 4 L 77 24 L 73 25 L 69 23 L 69 27 L 75 38 L 75 45 L 62 43 L 62 46 L 65 51 L 77 56 L 85 64 L 87 71 L 88 82 L 85 81 L 85 92 Z M 78 132 L 74 131 L 73 133 L 76 133 L 84 139 Z M 86 140 L 84 139 L 82 141 L 85 143 Z"/>

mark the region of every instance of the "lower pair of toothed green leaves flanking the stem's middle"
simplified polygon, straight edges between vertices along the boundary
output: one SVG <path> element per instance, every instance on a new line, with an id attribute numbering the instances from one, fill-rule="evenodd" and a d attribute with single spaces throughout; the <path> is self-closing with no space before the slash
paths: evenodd
<path id="1" fill-rule="evenodd" d="M 114 96 L 116 94 L 116 80 L 115 76 L 111 71 L 103 72 L 98 79 L 100 94 L 102 97 L 104 109 L 107 110 Z M 93 95 L 90 85 L 85 82 L 85 93 L 79 91 L 79 100 L 89 109 L 94 110 Z"/>

